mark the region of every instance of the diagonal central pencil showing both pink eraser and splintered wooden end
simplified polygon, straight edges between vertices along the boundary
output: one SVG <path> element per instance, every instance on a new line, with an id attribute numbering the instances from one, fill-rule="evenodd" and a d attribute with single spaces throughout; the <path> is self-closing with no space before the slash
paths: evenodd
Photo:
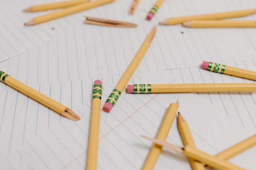
<path id="1" fill-rule="evenodd" d="M 156 26 L 154 26 L 154 28 L 150 31 L 150 33 L 148 34 L 144 43 L 142 44 L 141 48 L 139 49 L 139 51 L 137 52 L 137 54 L 131 61 L 131 64 L 128 66 L 125 73 L 123 74 L 123 77 L 120 79 L 120 81 L 117 83 L 115 89 L 110 94 L 108 100 L 106 101 L 106 103 L 103 106 L 103 111 L 105 111 L 107 113 L 109 113 L 111 111 L 111 109 L 117 102 L 118 98 L 120 97 L 121 93 L 123 92 L 125 86 L 131 79 L 132 74 L 134 73 L 134 71 L 140 64 L 143 56 L 147 52 L 147 49 L 149 48 L 149 46 L 155 36 L 155 33 L 156 33 Z"/>

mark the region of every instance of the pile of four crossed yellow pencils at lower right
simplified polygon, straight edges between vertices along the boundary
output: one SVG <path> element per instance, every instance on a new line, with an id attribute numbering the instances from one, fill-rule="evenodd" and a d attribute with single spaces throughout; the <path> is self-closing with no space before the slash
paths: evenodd
<path id="1" fill-rule="evenodd" d="M 163 146 L 186 155 L 189 158 L 189 163 L 191 165 L 191 169 L 193 170 L 204 170 L 206 165 L 212 168 L 221 169 L 221 170 L 242 170 L 243 169 L 241 167 L 238 167 L 234 164 L 227 162 L 227 160 L 255 146 L 256 135 L 253 135 L 237 143 L 236 145 L 218 153 L 217 155 L 212 156 L 196 148 L 195 142 L 193 140 L 193 137 L 187 122 L 181 116 L 181 114 L 178 113 L 178 119 L 177 119 L 178 128 L 181 134 L 184 147 L 175 146 L 172 143 L 166 142 L 165 140 L 168 136 L 168 133 L 170 131 L 170 128 L 176 116 L 178 107 L 179 107 L 178 100 L 176 103 L 170 104 L 155 139 L 142 136 L 154 142 L 144 162 L 144 165 L 142 167 L 143 170 L 154 169 L 154 166 L 162 151 Z"/>

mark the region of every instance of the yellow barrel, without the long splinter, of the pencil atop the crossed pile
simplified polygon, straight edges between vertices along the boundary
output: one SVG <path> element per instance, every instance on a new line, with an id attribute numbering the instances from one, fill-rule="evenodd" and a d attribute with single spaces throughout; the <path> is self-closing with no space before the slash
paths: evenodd
<path id="1" fill-rule="evenodd" d="M 199 162 L 205 163 L 213 168 L 222 170 L 242 170 L 243 168 L 233 165 L 224 159 L 209 155 L 207 153 L 201 152 L 199 150 L 193 149 L 186 146 L 183 153 L 189 158 L 198 160 Z"/>

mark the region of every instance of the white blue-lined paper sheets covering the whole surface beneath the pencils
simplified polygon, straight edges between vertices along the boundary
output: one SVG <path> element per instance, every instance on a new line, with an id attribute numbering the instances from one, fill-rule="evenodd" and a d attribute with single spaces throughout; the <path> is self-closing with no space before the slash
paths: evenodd
<path id="1" fill-rule="evenodd" d="M 56 0 L 57 1 L 57 0 Z M 85 169 L 93 81 L 103 82 L 102 105 L 154 24 L 169 17 L 242 10 L 254 1 L 166 0 L 151 22 L 155 1 L 141 0 L 127 16 L 130 0 L 116 0 L 37 26 L 23 23 L 46 14 L 24 13 L 50 0 L 3 0 L 0 5 L 0 68 L 13 78 L 72 108 L 82 119 L 61 117 L 0 83 L 1 169 Z M 92 16 L 138 24 L 136 29 L 83 24 Z M 256 15 L 236 18 L 256 20 Z M 253 82 L 199 68 L 202 61 L 256 71 L 254 29 L 188 29 L 158 26 L 156 36 L 129 84 Z M 126 94 L 111 113 L 101 113 L 98 169 L 141 169 L 168 106 L 179 111 L 197 147 L 218 152 L 256 132 L 255 92 Z M 176 120 L 167 141 L 182 146 Z M 255 147 L 230 159 L 255 169 Z M 155 169 L 189 169 L 186 157 L 164 149 Z"/>

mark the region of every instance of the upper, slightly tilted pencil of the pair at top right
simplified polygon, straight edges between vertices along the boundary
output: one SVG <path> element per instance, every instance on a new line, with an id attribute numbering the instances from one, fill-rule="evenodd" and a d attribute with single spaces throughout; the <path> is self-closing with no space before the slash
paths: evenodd
<path id="1" fill-rule="evenodd" d="M 159 22 L 159 24 L 174 25 L 174 24 L 180 24 L 186 21 L 191 21 L 191 20 L 212 20 L 212 19 L 234 18 L 234 17 L 243 17 L 243 16 L 255 14 L 255 13 L 256 13 L 256 9 L 250 9 L 250 10 L 241 10 L 241 11 L 176 17 L 176 18 L 169 18 L 169 19 L 163 20 Z"/>

